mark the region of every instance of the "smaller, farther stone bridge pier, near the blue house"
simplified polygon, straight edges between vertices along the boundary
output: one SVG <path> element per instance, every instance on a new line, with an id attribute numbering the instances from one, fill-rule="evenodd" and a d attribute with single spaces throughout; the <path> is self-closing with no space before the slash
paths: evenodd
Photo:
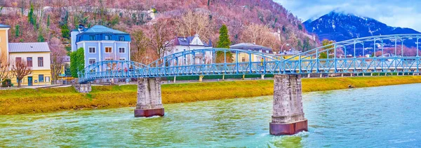
<path id="1" fill-rule="evenodd" d="M 135 117 L 163 116 L 163 114 L 161 78 L 139 78 Z"/>

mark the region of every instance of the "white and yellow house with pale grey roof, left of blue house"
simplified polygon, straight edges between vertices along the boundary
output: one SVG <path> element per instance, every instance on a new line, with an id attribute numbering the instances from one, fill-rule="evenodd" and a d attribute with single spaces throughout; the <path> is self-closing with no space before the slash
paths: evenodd
<path id="1" fill-rule="evenodd" d="M 32 73 L 22 79 L 22 86 L 51 85 L 50 48 L 47 42 L 8 43 L 9 59 L 13 62 L 25 61 L 32 67 Z M 13 64 L 13 62 L 11 62 Z M 17 86 L 18 79 L 11 76 L 12 83 Z"/>

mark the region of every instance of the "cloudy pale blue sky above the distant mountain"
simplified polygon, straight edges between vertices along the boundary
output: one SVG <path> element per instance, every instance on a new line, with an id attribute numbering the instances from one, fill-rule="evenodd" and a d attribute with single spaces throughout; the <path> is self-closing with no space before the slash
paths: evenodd
<path id="1" fill-rule="evenodd" d="M 303 22 L 330 11 L 374 18 L 393 27 L 421 32 L 421 0 L 274 0 Z"/>

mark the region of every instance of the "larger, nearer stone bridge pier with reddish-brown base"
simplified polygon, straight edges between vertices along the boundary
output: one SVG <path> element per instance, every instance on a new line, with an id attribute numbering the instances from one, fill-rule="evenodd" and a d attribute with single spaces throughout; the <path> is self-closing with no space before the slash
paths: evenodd
<path id="1" fill-rule="evenodd" d="M 271 135 L 293 135 L 308 130 L 301 93 L 300 75 L 274 75 L 274 106 L 272 122 L 269 123 Z"/>

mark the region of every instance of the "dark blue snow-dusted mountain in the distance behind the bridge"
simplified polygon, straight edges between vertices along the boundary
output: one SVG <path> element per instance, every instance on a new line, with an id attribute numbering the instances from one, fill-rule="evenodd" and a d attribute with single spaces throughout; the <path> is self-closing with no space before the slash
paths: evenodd
<path id="1" fill-rule="evenodd" d="M 390 27 L 373 18 L 332 11 L 316 20 L 303 23 L 308 32 L 317 34 L 319 39 L 344 41 L 365 36 L 386 34 L 418 34 L 410 28 Z"/>

